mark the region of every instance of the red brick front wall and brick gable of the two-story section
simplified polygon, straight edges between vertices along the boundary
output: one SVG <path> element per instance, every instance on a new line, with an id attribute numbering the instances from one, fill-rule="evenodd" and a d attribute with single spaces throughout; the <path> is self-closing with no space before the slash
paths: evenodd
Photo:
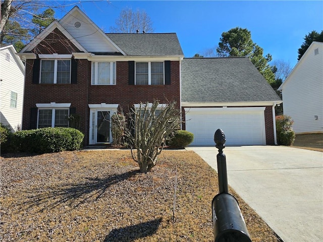
<path id="1" fill-rule="evenodd" d="M 47 42 L 48 43 L 47 43 Z M 50 33 L 33 52 L 36 54 L 70 54 L 79 50 L 61 32 L 56 29 Z M 88 104 L 120 104 L 124 112 L 133 103 L 152 102 L 154 99 L 161 103 L 177 101 L 180 105 L 180 65 L 171 62 L 171 85 L 135 86 L 128 85 L 128 62 L 117 62 L 117 85 L 92 86 L 91 62 L 78 59 L 77 84 L 33 84 L 33 59 L 27 59 L 25 76 L 25 95 L 23 124 L 24 130 L 30 129 L 31 108 L 36 103 L 71 103 L 76 107 L 76 113 L 81 116 L 81 131 L 84 133 L 84 144 L 89 138 L 89 107 Z"/>

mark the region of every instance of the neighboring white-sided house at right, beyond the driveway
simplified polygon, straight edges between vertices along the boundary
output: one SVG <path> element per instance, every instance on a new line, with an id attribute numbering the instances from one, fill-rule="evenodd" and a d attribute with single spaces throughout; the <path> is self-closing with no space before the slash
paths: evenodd
<path id="1" fill-rule="evenodd" d="M 312 42 L 278 90 L 296 134 L 323 132 L 323 43 Z"/>

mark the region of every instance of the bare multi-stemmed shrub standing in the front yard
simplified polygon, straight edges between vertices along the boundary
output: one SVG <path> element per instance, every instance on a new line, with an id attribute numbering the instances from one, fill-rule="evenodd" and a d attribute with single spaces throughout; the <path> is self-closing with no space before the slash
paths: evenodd
<path id="1" fill-rule="evenodd" d="M 157 100 L 150 105 L 148 102 L 140 103 L 129 113 L 130 128 L 124 133 L 140 172 L 146 173 L 156 165 L 157 156 L 163 151 L 167 138 L 180 127 L 180 113 L 175 101 L 160 107 Z"/>

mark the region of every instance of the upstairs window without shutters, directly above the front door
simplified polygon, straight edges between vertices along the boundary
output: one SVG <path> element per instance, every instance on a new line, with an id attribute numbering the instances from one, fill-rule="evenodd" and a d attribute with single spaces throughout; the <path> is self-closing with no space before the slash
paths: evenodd
<path id="1" fill-rule="evenodd" d="M 116 85 L 116 63 L 92 62 L 92 85 Z"/>

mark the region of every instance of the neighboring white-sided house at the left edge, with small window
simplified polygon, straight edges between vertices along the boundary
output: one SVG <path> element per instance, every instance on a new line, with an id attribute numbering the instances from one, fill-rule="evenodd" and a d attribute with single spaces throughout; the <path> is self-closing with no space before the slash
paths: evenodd
<path id="1" fill-rule="evenodd" d="M 0 122 L 21 127 L 25 67 L 13 45 L 0 47 Z"/>

